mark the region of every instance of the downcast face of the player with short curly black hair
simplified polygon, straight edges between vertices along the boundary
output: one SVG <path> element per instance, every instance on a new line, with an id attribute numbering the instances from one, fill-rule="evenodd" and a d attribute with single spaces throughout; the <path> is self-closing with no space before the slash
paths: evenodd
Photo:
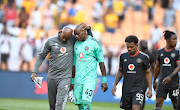
<path id="1" fill-rule="evenodd" d="M 130 55 L 134 55 L 137 52 L 138 44 L 134 42 L 126 42 L 126 47 Z"/>

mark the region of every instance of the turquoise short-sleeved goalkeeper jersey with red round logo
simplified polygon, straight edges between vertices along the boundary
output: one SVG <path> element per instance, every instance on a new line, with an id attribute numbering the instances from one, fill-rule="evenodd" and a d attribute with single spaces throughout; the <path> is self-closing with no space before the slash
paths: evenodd
<path id="1" fill-rule="evenodd" d="M 97 62 L 104 62 L 101 43 L 91 36 L 86 41 L 76 41 L 74 44 L 75 84 L 83 84 L 87 80 L 96 81 Z"/>

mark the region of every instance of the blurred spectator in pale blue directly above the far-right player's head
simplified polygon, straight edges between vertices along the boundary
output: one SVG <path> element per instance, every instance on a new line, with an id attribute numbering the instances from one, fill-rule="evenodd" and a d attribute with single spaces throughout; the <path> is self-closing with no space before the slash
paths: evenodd
<path id="1" fill-rule="evenodd" d="M 175 21 L 175 10 L 172 8 L 172 5 L 169 4 L 165 9 L 165 17 L 164 17 L 164 26 L 166 29 L 173 28 Z"/>

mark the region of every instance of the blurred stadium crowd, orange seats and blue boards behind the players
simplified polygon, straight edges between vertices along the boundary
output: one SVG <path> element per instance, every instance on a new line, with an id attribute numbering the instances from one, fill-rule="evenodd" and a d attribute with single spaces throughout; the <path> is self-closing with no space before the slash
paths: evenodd
<path id="1" fill-rule="evenodd" d="M 37 87 L 30 81 L 30 71 L 47 38 L 57 34 L 65 25 L 74 28 L 81 22 L 91 26 L 94 37 L 103 45 L 109 79 L 109 90 L 105 95 L 98 88 L 101 83 L 98 69 L 99 85 L 93 101 L 118 103 L 121 94 L 114 98 L 111 89 L 118 70 L 118 57 L 126 51 L 125 37 L 133 34 L 139 40 L 147 40 L 148 49 L 155 60 L 157 49 L 165 46 L 163 31 L 168 29 L 180 35 L 180 1 L 1 0 L 0 56 L 6 54 L 9 57 L 7 65 L 2 58 L 0 61 L 0 109 L 8 109 L 8 105 L 2 103 L 6 102 L 4 98 L 47 100 L 45 86 L 40 90 L 43 94 L 35 93 Z M 47 70 L 48 56 L 38 74 L 44 77 L 43 85 L 46 85 Z M 118 85 L 118 91 L 121 91 L 121 85 L 122 82 Z M 154 105 L 155 96 L 147 99 L 147 104 Z M 169 99 L 164 105 L 172 106 Z"/>

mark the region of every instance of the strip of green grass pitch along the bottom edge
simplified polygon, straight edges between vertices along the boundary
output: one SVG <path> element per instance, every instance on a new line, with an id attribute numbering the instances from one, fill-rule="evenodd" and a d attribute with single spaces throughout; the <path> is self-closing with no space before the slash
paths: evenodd
<path id="1" fill-rule="evenodd" d="M 0 98 L 0 110 L 49 110 L 47 100 Z M 68 102 L 65 110 L 78 110 L 77 106 Z M 122 110 L 119 103 L 93 102 L 92 110 Z M 154 110 L 154 105 L 146 105 L 144 110 Z M 172 106 L 163 106 L 162 110 L 173 110 Z"/>

